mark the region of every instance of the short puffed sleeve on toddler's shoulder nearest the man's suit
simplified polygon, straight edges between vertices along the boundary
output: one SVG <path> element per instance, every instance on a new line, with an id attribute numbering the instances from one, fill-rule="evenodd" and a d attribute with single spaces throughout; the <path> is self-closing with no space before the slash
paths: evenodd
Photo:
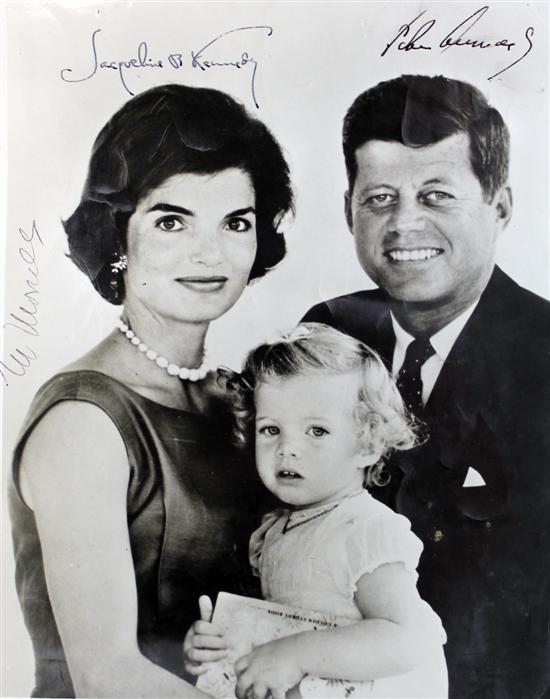
<path id="1" fill-rule="evenodd" d="M 403 563 L 416 582 L 423 546 L 406 517 L 392 512 L 372 521 L 357 518 L 349 524 L 345 546 L 348 594 L 356 592 L 362 575 L 385 563 Z"/>

